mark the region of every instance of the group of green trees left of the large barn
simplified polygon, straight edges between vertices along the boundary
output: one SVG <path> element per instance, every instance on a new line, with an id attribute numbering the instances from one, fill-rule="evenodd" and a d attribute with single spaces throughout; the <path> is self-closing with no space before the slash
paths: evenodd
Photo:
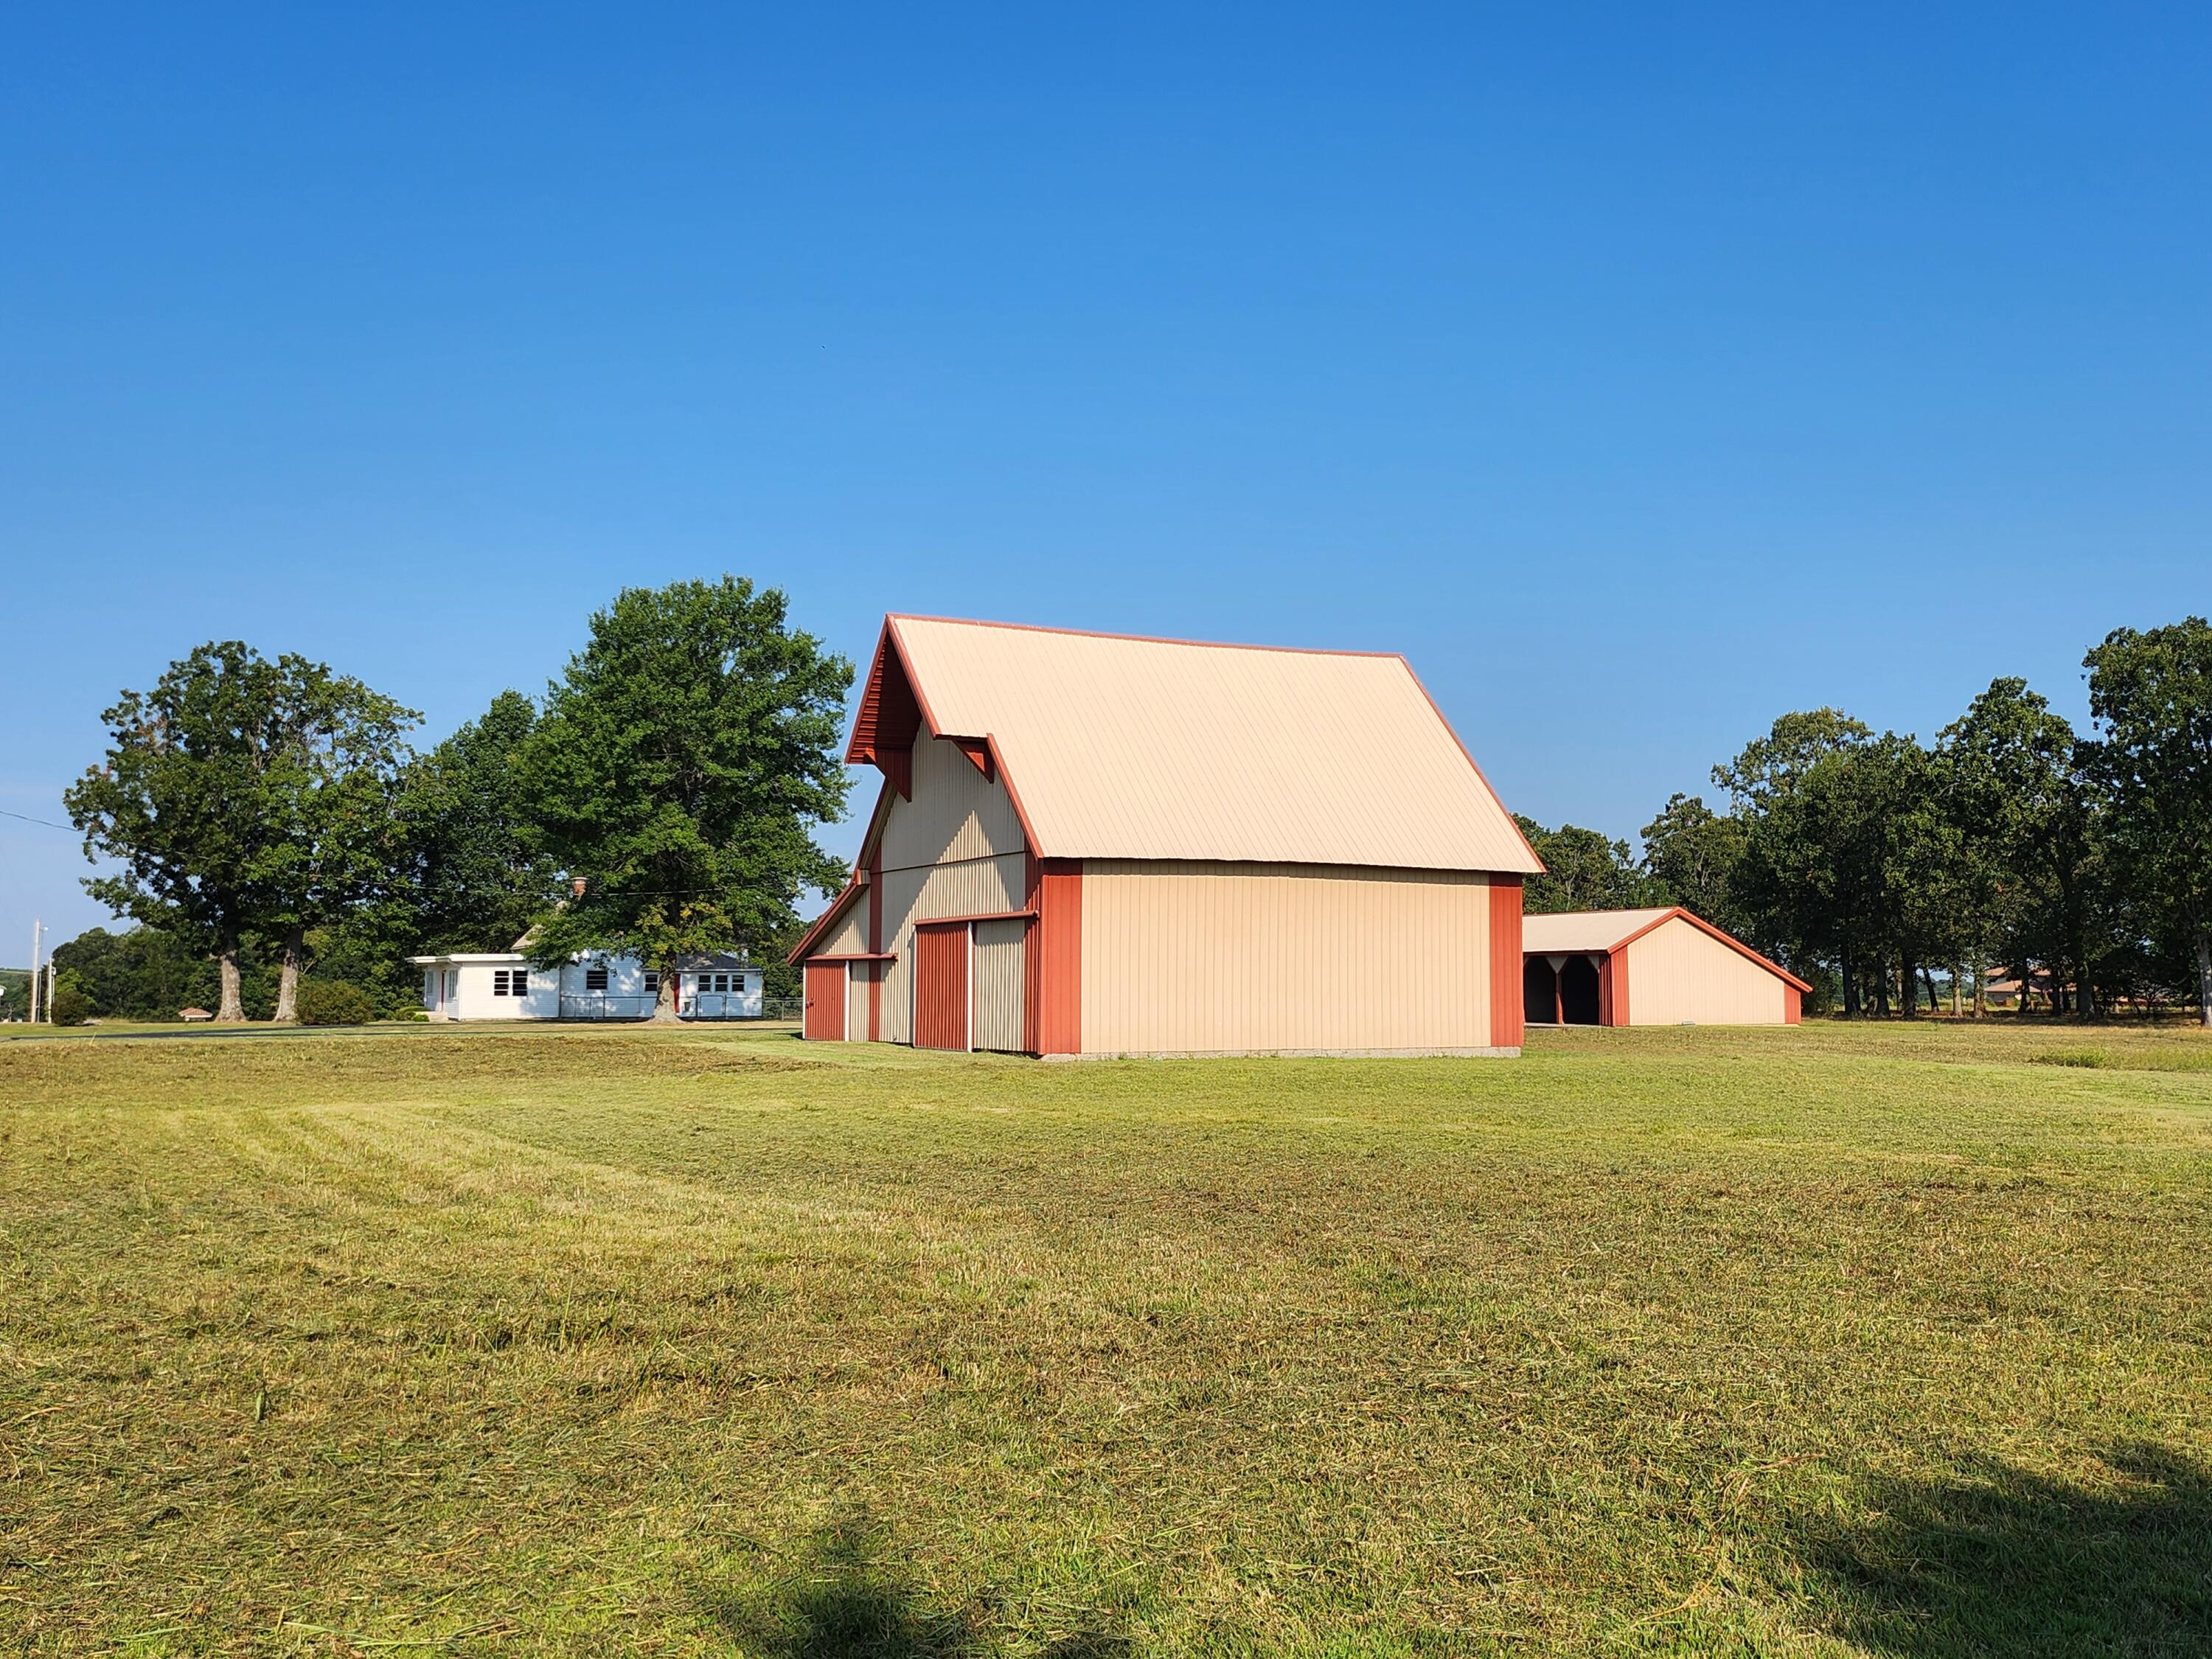
<path id="1" fill-rule="evenodd" d="M 106 1015 L 299 1018 L 307 975 L 416 1006 L 407 956 L 637 953 L 675 1018 L 675 960 L 781 953 L 845 880 L 852 661 L 743 577 L 626 588 L 544 697 L 502 692 L 427 752 L 420 714 L 296 655 L 212 641 L 126 690 L 64 796 L 84 887 L 128 933 L 53 953 Z"/>

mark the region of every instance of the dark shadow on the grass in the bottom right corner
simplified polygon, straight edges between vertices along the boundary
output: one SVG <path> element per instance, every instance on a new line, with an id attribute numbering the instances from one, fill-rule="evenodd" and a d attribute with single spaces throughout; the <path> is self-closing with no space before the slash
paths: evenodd
<path id="1" fill-rule="evenodd" d="M 2159 1447 L 2097 1489 L 1989 1462 L 1893 1482 L 1871 1520 L 1807 1537 L 1832 1628 L 1874 1652 L 2212 1652 L 2212 1475 Z"/>

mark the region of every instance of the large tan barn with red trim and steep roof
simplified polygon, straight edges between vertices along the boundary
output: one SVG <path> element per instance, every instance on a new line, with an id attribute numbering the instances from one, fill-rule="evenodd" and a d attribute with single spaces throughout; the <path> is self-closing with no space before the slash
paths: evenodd
<path id="1" fill-rule="evenodd" d="M 805 1035 L 1511 1055 L 1542 865 L 1402 657 L 887 617 Z"/>

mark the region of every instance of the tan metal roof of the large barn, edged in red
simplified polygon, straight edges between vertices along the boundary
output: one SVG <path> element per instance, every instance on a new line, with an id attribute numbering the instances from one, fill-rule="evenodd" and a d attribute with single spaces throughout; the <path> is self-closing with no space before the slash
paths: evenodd
<path id="1" fill-rule="evenodd" d="M 885 635 L 929 730 L 998 750 L 1040 856 L 1542 869 L 1405 657 L 933 617 Z"/>

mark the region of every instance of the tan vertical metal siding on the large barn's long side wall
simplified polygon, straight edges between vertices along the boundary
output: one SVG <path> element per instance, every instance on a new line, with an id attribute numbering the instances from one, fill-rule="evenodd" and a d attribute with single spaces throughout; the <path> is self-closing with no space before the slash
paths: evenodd
<path id="1" fill-rule="evenodd" d="M 1489 876 L 1091 858 L 1082 883 L 1084 1053 L 1498 1046 Z"/>

